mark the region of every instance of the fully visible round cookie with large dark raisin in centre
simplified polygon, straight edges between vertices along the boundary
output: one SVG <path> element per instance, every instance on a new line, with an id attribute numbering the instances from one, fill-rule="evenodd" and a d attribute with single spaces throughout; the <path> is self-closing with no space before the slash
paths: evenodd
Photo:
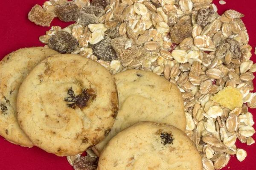
<path id="1" fill-rule="evenodd" d="M 37 65 L 20 85 L 17 118 L 35 146 L 76 155 L 108 135 L 118 112 L 116 85 L 97 62 L 59 54 Z"/>

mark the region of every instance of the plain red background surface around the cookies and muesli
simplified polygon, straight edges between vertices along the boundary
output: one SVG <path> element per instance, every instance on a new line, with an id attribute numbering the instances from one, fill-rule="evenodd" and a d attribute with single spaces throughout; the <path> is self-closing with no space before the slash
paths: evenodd
<path id="1" fill-rule="evenodd" d="M 249 44 L 253 47 L 252 53 L 256 46 L 256 14 L 255 0 L 225 0 L 227 4 L 218 4 L 219 0 L 214 0 L 218 6 L 218 13 L 223 14 L 227 9 L 235 9 L 245 17 L 242 20 L 247 27 L 250 37 Z M 50 27 L 37 26 L 28 20 L 27 14 L 35 5 L 43 5 L 45 0 L 1 0 L 0 4 L 0 59 L 5 55 L 19 48 L 43 46 L 38 37 L 45 34 Z M 55 18 L 51 26 L 65 26 L 70 23 L 64 23 Z M 256 55 L 251 58 L 256 62 Z M 256 80 L 254 81 L 256 83 Z M 253 113 L 254 122 L 256 122 L 256 109 L 250 109 Z M 254 126 L 256 128 L 256 125 Z M 253 138 L 256 140 L 256 135 Z M 247 157 L 244 161 L 239 162 L 232 156 L 229 164 L 223 170 L 255 170 L 256 167 L 256 144 L 247 146 L 236 142 L 238 148 L 247 151 Z M 7 142 L 0 136 L 0 169 L 1 170 L 72 170 L 66 157 L 58 157 L 53 154 L 44 152 L 38 147 L 26 148 Z"/>

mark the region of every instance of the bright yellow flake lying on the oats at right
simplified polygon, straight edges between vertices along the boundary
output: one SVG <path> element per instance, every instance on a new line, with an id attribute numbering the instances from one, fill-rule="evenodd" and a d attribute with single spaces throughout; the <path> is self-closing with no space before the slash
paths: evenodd
<path id="1" fill-rule="evenodd" d="M 211 99 L 230 110 L 241 108 L 243 104 L 243 95 L 239 89 L 230 86 L 219 91 L 215 96 L 211 97 Z"/>

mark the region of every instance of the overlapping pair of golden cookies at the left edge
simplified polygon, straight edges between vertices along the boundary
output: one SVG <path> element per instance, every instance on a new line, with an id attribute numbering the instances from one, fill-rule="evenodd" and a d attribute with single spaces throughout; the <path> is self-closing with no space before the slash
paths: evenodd
<path id="1" fill-rule="evenodd" d="M 5 57 L 0 74 L 0 134 L 10 142 L 76 155 L 101 142 L 113 126 L 116 85 L 93 60 L 26 48 Z"/>

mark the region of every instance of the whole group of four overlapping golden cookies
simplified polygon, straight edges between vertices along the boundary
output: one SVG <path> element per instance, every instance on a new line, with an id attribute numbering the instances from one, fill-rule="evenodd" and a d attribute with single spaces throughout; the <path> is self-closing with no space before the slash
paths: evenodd
<path id="1" fill-rule="evenodd" d="M 0 135 L 9 142 L 57 156 L 93 147 L 98 170 L 202 169 L 181 93 L 154 73 L 112 76 L 93 60 L 36 47 L 7 55 L 0 75 Z"/>

